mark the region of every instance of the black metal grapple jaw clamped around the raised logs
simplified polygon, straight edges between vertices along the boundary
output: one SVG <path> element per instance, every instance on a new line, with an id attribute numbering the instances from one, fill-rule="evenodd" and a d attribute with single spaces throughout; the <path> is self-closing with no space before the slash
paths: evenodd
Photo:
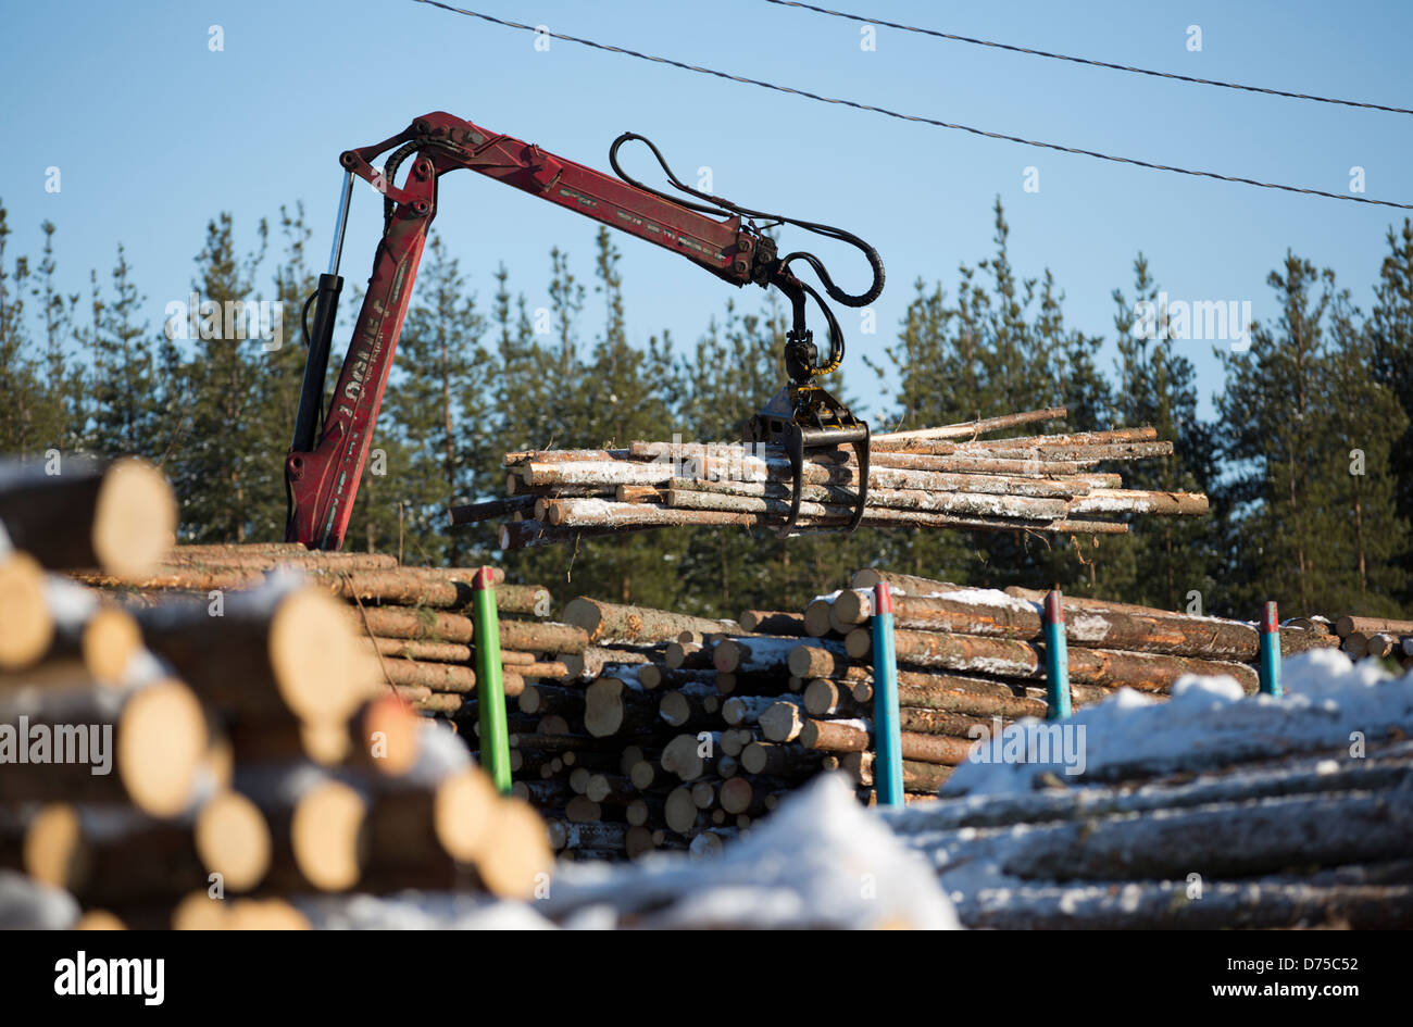
<path id="1" fill-rule="evenodd" d="M 788 535 L 800 518 L 804 492 L 804 455 L 811 451 L 852 445 L 859 462 L 858 501 L 846 533 L 863 520 L 869 496 L 869 425 L 829 393 L 812 384 L 788 384 L 746 424 L 746 442 L 764 442 L 786 451 L 790 461 L 790 516 L 781 535 Z"/>

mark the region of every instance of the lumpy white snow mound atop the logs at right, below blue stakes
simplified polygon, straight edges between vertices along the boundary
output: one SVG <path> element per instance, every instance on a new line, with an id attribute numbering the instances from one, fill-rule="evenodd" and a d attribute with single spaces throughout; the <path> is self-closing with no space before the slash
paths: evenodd
<path id="1" fill-rule="evenodd" d="M 1163 773 L 1347 747 L 1354 732 L 1375 740 L 1390 726 L 1413 732 L 1413 674 L 1393 678 L 1373 661 L 1351 664 L 1338 650 L 1320 648 L 1286 660 L 1282 678 L 1286 694 L 1279 698 L 1245 695 L 1228 677 L 1180 678 L 1169 702 L 1125 688 L 1064 723 L 1071 730 L 1084 728 L 1084 774 L 1089 778 L 1121 768 Z M 1024 752 L 1053 749 L 1053 730 L 1054 725 L 1029 718 L 1006 728 L 985 743 L 989 760 L 958 767 L 942 794 L 1023 794 L 1047 774 L 1068 783 L 1063 760 L 1000 759 L 1019 742 L 1024 742 Z"/>

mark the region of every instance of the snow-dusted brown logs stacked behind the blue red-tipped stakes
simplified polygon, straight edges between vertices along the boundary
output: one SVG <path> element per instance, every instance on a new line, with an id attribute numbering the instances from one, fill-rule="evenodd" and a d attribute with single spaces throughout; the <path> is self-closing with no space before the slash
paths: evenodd
<path id="1" fill-rule="evenodd" d="M 846 767 L 872 783 L 872 602 L 886 581 L 893 596 L 904 788 L 933 794 L 976 739 L 1024 716 L 1044 718 L 1043 592 L 962 588 L 868 568 L 851 588 L 804 612 L 812 648 L 790 654 L 805 682 L 803 719 L 771 740 L 810 749 L 852 747 Z M 1119 688 L 1164 698 L 1184 674 L 1226 675 L 1258 689 L 1256 626 L 1096 599 L 1064 598 L 1071 699 L 1092 705 Z M 1282 627 L 1284 654 L 1334 647 L 1317 622 Z M 773 726 L 773 725 L 771 725 Z"/>

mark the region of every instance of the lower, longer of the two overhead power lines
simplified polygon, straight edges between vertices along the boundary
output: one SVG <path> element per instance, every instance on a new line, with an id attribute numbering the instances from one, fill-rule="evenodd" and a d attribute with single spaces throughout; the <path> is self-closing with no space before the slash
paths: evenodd
<path id="1" fill-rule="evenodd" d="M 673 68 L 681 68 L 682 71 L 697 72 L 698 75 L 711 75 L 714 78 L 726 79 L 729 82 L 740 82 L 749 86 L 760 86 L 762 89 L 773 89 L 777 93 L 790 93 L 791 96 L 803 96 L 807 100 L 818 100 L 820 103 L 834 103 L 842 107 L 852 107 L 855 110 L 868 110 L 875 114 L 883 114 L 886 117 L 896 117 L 903 121 L 917 121 L 920 124 L 931 124 L 938 129 L 954 129 L 957 131 L 966 131 L 972 136 L 985 136 L 986 138 L 999 138 L 1006 143 L 1019 143 L 1022 146 L 1039 147 L 1041 150 L 1056 150 L 1065 154 L 1078 154 L 1081 157 L 1094 157 L 1101 161 L 1112 161 L 1115 164 L 1128 164 L 1137 168 L 1149 168 L 1152 171 L 1171 171 L 1177 175 L 1191 175 L 1194 178 L 1214 178 L 1221 182 L 1238 182 L 1241 185 L 1255 185 L 1260 189 L 1280 189 L 1282 192 L 1299 192 L 1306 196 L 1323 196 L 1325 199 L 1342 199 L 1351 203 L 1369 203 L 1373 206 L 1392 206 L 1400 210 L 1413 210 L 1413 203 L 1397 203 L 1392 199 L 1371 199 L 1369 196 L 1354 196 L 1344 195 L 1340 192 L 1325 192 L 1324 189 L 1306 189 L 1299 185 L 1282 185 L 1279 182 L 1262 182 L 1255 178 L 1242 178 L 1239 175 L 1222 175 L 1217 171 L 1195 171 L 1193 168 L 1180 168 L 1171 164 L 1157 164 L 1154 161 L 1143 161 L 1136 157 L 1121 157 L 1116 154 L 1104 154 L 1096 150 L 1082 150 L 1080 147 L 1063 146 L 1060 143 L 1043 143 L 1040 140 L 1023 138 L 1020 136 L 1007 136 L 1000 131 L 988 131 L 986 129 L 976 129 L 969 124 L 958 124 L 955 121 L 942 121 L 935 117 L 924 117 L 921 114 L 907 114 L 897 110 L 889 110 L 887 107 L 876 107 L 872 103 L 859 103 L 858 100 L 845 100 L 836 96 L 821 96 L 820 93 L 811 93 L 805 89 L 796 89 L 794 86 L 783 86 L 774 82 L 763 82 L 762 79 L 746 78 L 745 75 L 732 75 L 731 72 L 716 71 L 714 68 L 702 68 L 701 65 L 687 64 L 684 61 L 674 61 L 667 57 L 656 57 L 653 54 L 643 54 L 636 49 L 627 49 L 626 47 L 615 47 L 608 42 L 595 42 L 593 40 L 581 40 L 577 35 L 565 35 L 562 32 L 551 32 L 548 28 L 537 28 L 536 25 L 526 25 L 519 21 L 509 21 L 506 18 L 497 18 L 493 14 L 482 14 L 480 11 L 469 11 L 465 7 L 454 7 L 441 0 L 414 0 L 415 3 L 431 4 L 432 7 L 441 7 L 445 11 L 454 14 L 465 14 L 472 18 L 480 18 L 482 21 L 489 21 L 496 25 L 503 25 L 506 28 L 519 28 L 526 32 L 538 32 L 554 40 L 562 40 L 564 42 L 577 42 L 581 47 L 592 47 L 593 49 L 603 49 L 610 54 L 623 54 L 626 57 L 636 57 L 640 61 L 653 61 L 654 64 L 666 64 Z"/>

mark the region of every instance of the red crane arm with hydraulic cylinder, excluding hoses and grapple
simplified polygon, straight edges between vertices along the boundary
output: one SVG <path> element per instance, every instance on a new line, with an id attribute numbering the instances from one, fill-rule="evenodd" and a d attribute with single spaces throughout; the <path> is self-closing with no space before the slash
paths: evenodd
<path id="1" fill-rule="evenodd" d="M 394 147 L 387 179 L 396 175 L 404 157 L 417 154 L 401 186 L 384 179 L 384 172 L 372 164 Z M 339 161 L 348 172 L 383 192 L 390 212 L 348 356 L 315 444 L 314 429 L 328 366 L 328 336 L 342 285 L 336 275 L 339 242 L 335 242 L 331 271 L 319 284 L 321 302 L 315 314 L 300 415 L 285 459 L 290 497 L 285 538 L 314 550 L 338 550 L 348 531 L 413 281 L 427 232 L 437 216 L 437 181 L 442 174 L 456 168 L 479 171 L 680 253 L 733 285 L 750 281 L 764 285 L 771 277 L 771 284 L 781 284 L 781 280 L 797 283 L 788 271 L 777 267 L 774 243 L 752 227 L 743 229 L 739 215 L 722 220 L 709 218 L 670 198 L 442 112 L 418 117 L 404 131 L 382 143 L 349 150 Z M 341 235 L 342 215 L 341 209 Z M 328 304 L 326 295 L 332 297 Z"/>

